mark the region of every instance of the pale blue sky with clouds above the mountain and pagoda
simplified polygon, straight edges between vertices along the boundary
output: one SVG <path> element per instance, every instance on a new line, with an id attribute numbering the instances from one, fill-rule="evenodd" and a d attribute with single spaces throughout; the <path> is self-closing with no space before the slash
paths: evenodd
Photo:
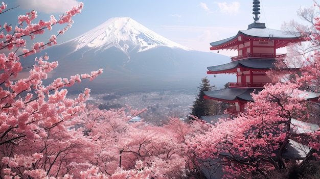
<path id="1" fill-rule="evenodd" d="M 210 52 L 210 42 L 228 38 L 245 30 L 252 23 L 252 3 L 250 0 L 209 1 L 209 0 L 83 0 L 84 9 L 78 14 L 73 27 L 58 38 L 58 43 L 75 38 L 95 28 L 111 17 L 131 17 L 148 29 L 181 45 L 196 50 Z M 76 0 L 11 0 L 5 2 L 8 8 L 19 5 L 1 14 L 0 23 L 17 23 L 17 16 L 31 10 L 38 12 L 38 20 L 56 18 Z M 260 22 L 267 28 L 281 29 L 283 22 L 294 19 L 299 8 L 310 7 L 312 0 L 261 0 Z M 49 34 L 56 34 L 56 31 Z"/>

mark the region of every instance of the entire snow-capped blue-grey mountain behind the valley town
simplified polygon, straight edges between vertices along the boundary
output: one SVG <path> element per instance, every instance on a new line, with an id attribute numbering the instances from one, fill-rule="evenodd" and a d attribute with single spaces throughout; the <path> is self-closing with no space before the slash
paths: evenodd
<path id="1" fill-rule="evenodd" d="M 52 78 L 70 78 L 77 73 L 104 69 L 94 81 L 74 85 L 71 90 L 76 92 L 84 87 L 97 93 L 194 89 L 201 78 L 207 76 L 207 66 L 230 62 L 229 57 L 199 52 L 175 43 L 130 17 L 110 18 L 98 27 L 41 53 L 47 53 L 50 61 L 59 62 Z M 221 75 L 211 83 L 222 87 L 226 81 L 232 81 L 230 78 Z"/>

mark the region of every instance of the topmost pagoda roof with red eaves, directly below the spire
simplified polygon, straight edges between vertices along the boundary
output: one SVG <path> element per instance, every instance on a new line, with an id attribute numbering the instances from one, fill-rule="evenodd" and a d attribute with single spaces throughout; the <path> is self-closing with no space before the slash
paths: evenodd
<path id="1" fill-rule="evenodd" d="M 292 42 L 303 41 L 300 32 L 289 33 L 282 30 L 274 30 L 268 28 L 252 28 L 248 30 L 240 30 L 237 35 L 216 42 L 211 42 L 211 50 L 214 49 L 237 49 L 236 46 L 245 41 L 275 41 L 276 48 L 287 46 Z"/>

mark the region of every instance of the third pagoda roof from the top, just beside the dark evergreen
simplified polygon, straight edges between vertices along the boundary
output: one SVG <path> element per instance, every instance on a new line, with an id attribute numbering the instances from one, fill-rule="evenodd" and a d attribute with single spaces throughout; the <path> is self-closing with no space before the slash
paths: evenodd
<path id="1" fill-rule="evenodd" d="M 255 91 L 256 90 L 256 91 Z M 251 93 L 255 91 L 258 93 L 262 89 L 238 89 L 238 88 L 225 88 L 214 91 L 204 91 L 204 95 L 210 99 L 222 100 L 228 102 L 235 102 L 237 100 L 253 101 Z"/>

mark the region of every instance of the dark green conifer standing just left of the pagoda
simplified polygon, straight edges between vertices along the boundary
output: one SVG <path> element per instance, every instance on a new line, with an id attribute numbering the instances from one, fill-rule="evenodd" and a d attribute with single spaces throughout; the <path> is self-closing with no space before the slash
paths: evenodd
<path id="1" fill-rule="evenodd" d="M 199 94 L 196 97 L 196 100 L 193 102 L 193 106 L 190 108 L 192 109 L 191 115 L 198 117 L 201 119 L 201 116 L 208 116 L 213 115 L 212 113 L 212 106 L 213 106 L 213 100 L 211 99 L 204 99 L 204 91 L 211 91 L 215 86 L 210 85 L 210 81 L 207 79 L 207 77 L 201 79 L 199 88 Z M 189 119 L 193 120 L 194 118 L 190 116 Z"/>

